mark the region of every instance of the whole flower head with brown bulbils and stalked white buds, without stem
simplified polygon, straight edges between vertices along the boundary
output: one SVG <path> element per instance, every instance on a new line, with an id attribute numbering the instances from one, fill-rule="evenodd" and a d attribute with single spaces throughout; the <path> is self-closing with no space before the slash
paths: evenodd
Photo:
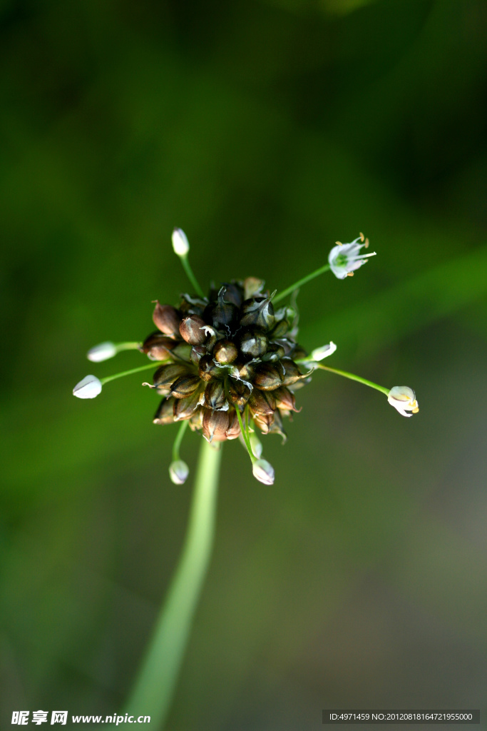
<path id="1" fill-rule="evenodd" d="M 175 229 L 172 244 L 199 295 L 182 295 L 177 307 L 157 301 L 153 321 L 158 329 L 142 344 L 102 343 L 88 352 L 88 358 L 99 362 L 120 350 L 136 347 L 150 360 L 159 362 L 153 382 L 144 384 L 162 396 L 154 423 L 188 423 L 193 431 L 202 431 L 210 444 L 240 437 L 248 449 L 254 476 L 272 485 L 274 469 L 261 458 L 256 428 L 264 434 L 280 434 L 285 441 L 283 417 L 300 411 L 296 409 L 294 392 L 310 382 L 312 371 L 323 367 L 318 361 L 331 355 L 336 346 L 330 342 L 307 355 L 296 342 L 296 306 L 275 310 L 275 292 L 270 294 L 264 289 L 264 281 L 256 277 L 231 280 L 218 289 L 212 288 L 209 296 L 204 297 L 188 264 L 189 245 L 182 230 Z M 352 243 L 337 241 L 330 251 L 329 265 L 311 276 L 326 269 L 338 279 L 353 276 L 368 261 L 367 257 L 375 255 L 360 254 L 361 248 L 368 245 L 362 234 Z M 277 299 L 293 290 L 290 287 Z M 101 392 L 103 382 L 143 368 L 101 381 L 96 376 L 86 376 L 73 393 L 79 398 L 93 398 Z M 388 390 L 345 371 L 325 370 L 382 391 L 403 416 L 410 417 L 419 410 L 415 393 L 407 386 Z M 188 466 L 179 459 L 179 443 L 180 437 L 169 467 L 172 481 L 178 484 L 188 477 Z"/>

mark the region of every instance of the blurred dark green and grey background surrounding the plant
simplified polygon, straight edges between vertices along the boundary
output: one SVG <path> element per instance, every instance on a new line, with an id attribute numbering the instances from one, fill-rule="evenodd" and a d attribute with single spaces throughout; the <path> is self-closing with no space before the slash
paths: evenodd
<path id="1" fill-rule="evenodd" d="M 270 289 L 364 231 L 366 268 L 300 292 L 300 341 L 421 411 L 321 372 L 264 438 L 272 488 L 225 445 L 168 728 L 485 711 L 485 0 L 3 0 L 0 26 L 4 726 L 119 711 L 175 568 L 176 427 L 141 374 L 71 395 L 188 291 L 174 226 L 200 281 Z"/>

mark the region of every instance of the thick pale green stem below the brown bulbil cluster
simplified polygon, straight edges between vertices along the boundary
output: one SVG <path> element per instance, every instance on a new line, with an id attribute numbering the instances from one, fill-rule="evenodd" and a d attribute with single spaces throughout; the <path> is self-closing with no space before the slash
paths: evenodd
<path id="1" fill-rule="evenodd" d="M 147 654 L 123 713 L 150 716 L 150 727 L 164 727 L 193 615 L 207 573 L 215 531 L 221 448 L 202 439 L 183 553 L 161 609 Z"/>

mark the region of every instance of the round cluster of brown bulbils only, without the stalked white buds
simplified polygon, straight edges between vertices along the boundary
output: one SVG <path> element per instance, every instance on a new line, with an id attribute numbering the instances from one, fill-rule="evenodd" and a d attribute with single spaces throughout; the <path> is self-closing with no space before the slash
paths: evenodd
<path id="1" fill-rule="evenodd" d="M 153 320 L 158 332 L 141 350 L 166 362 L 150 385 L 164 397 L 154 423 L 187 419 L 208 442 L 223 442 L 241 432 L 238 409 L 285 438 L 283 417 L 297 411 L 293 391 L 310 371 L 296 363 L 307 355 L 294 339 L 296 312 L 275 312 L 263 281 L 231 281 L 207 300 L 183 295 L 178 308 L 157 303 Z"/>

